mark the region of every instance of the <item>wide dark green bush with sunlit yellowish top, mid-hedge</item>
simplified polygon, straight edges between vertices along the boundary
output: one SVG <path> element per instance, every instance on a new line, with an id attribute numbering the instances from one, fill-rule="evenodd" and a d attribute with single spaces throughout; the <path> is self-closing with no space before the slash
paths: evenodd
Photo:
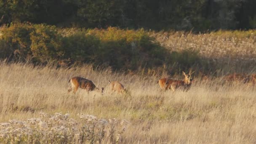
<path id="1" fill-rule="evenodd" d="M 65 57 L 74 61 L 134 70 L 159 66 L 168 55 L 165 48 L 143 29 L 136 31 L 109 27 L 76 31 L 70 35 L 63 32 Z"/>

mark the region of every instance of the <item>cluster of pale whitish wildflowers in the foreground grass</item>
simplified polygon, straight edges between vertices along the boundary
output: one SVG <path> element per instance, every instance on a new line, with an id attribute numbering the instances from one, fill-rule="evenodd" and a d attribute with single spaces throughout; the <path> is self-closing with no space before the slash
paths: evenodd
<path id="1" fill-rule="evenodd" d="M 40 118 L 31 118 L 25 121 L 9 120 L 8 123 L 0 123 L 0 142 L 118 142 L 121 141 L 122 134 L 129 124 L 126 120 L 104 120 L 84 114 L 78 114 L 78 116 L 80 120 L 69 118 L 69 114 L 48 115 L 40 113 Z"/>

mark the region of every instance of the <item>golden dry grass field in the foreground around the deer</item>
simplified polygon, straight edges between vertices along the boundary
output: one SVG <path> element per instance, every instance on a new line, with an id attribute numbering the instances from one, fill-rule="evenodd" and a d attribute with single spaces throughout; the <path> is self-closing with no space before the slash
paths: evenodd
<path id="1" fill-rule="evenodd" d="M 3 61 L 0 69 L 1 143 L 256 143 L 251 84 L 221 85 L 220 77 L 196 80 L 188 92 L 162 93 L 157 80 L 167 75 Z M 82 89 L 68 94 L 73 76 L 105 87 L 103 96 Z M 108 80 L 123 83 L 131 96 L 111 94 Z"/>

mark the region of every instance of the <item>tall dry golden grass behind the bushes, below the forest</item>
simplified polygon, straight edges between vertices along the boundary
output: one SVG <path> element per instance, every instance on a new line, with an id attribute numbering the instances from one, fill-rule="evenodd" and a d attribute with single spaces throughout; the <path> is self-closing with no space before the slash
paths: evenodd
<path id="1" fill-rule="evenodd" d="M 194 50 L 205 64 L 225 72 L 255 71 L 256 31 L 149 32 L 170 51 Z"/>

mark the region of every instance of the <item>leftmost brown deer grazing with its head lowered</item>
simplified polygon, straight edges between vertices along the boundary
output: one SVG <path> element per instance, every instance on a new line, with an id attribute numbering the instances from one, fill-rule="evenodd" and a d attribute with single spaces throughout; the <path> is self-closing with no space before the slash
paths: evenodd
<path id="1" fill-rule="evenodd" d="M 83 77 L 72 77 L 69 83 L 71 83 L 71 88 L 69 88 L 68 93 L 72 91 L 72 89 L 73 93 L 75 93 L 78 88 L 85 89 L 88 94 L 89 91 L 94 91 L 95 89 L 99 91 L 99 88 L 97 88 L 91 80 L 87 80 Z M 104 88 L 101 88 L 101 93 L 103 93 L 103 90 Z"/>

